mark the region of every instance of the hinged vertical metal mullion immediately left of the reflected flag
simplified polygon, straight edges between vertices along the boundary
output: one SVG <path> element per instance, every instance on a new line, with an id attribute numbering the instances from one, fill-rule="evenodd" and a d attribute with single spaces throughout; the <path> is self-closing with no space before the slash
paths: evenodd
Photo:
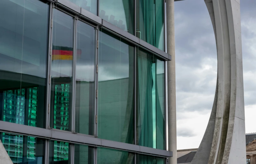
<path id="1" fill-rule="evenodd" d="M 50 82 L 50 74 L 51 74 L 51 65 L 52 65 L 52 56 L 51 54 L 51 46 L 52 46 L 52 28 L 51 28 L 51 22 L 53 20 L 53 3 L 50 3 L 50 7 L 49 7 L 49 28 L 48 28 L 48 66 L 47 66 L 47 98 L 46 98 L 46 128 L 49 128 L 50 126 L 50 112 L 48 113 L 48 104 L 51 103 L 50 99 L 51 99 L 51 84 L 49 84 Z M 53 47 L 52 47 L 53 48 Z"/>

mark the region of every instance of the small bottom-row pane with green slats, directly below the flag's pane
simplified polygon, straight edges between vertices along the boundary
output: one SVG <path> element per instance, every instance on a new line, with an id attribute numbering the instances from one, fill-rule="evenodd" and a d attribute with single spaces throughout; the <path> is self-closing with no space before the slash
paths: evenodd
<path id="1" fill-rule="evenodd" d="M 70 164 L 69 143 L 62 141 L 50 141 L 50 164 Z"/>

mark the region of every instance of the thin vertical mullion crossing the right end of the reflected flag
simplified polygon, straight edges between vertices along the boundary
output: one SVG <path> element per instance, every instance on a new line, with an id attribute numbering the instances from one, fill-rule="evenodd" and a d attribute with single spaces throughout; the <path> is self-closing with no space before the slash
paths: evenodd
<path id="1" fill-rule="evenodd" d="M 76 23 L 77 23 L 77 15 L 74 18 L 74 35 L 73 35 L 73 80 L 72 80 L 72 108 L 71 108 L 71 132 L 75 133 L 75 81 L 76 81 Z"/>

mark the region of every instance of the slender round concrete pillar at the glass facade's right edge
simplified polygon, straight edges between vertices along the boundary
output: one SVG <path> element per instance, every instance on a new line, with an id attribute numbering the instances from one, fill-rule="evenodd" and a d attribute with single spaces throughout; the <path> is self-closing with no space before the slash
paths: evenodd
<path id="1" fill-rule="evenodd" d="M 167 53 L 172 56 L 167 62 L 168 150 L 173 152 L 169 164 L 177 164 L 174 0 L 166 0 L 166 33 Z"/>

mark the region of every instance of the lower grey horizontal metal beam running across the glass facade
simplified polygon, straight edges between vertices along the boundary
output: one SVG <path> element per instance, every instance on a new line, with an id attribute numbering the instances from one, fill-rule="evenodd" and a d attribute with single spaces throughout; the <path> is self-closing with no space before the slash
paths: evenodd
<path id="1" fill-rule="evenodd" d="M 73 134 L 71 132 L 44 129 L 39 127 L 31 127 L 27 125 L 15 124 L 11 122 L 0 121 L 0 131 L 6 133 L 14 133 L 20 135 L 29 135 L 34 137 L 47 138 L 52 140 L 61 140 L 65 142 L 87 144 L 97 147 L 107 147 L 112 149 L 124 150 L 129 152 L 136 152 L 141 154 L 148 154 L 152 156 L 172 157 L 172 152 L 160 149 L 149 148 L 129 143 L 122 143 L 96 138 L 94 136 L 87 136 L 81 134 Z"/>

